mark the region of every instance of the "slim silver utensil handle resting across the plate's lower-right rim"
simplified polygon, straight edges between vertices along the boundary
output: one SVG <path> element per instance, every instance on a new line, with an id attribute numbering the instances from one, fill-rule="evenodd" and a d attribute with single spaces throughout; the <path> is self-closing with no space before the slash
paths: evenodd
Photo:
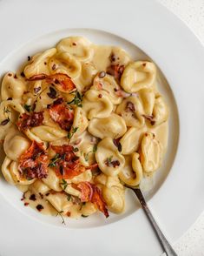
<path id="1" fill-rule="evenodd" d="M 151 225 L 153 226 L 153 229 L 161 243 L 161 246 L 164 250 L 164 252 L 167 254 L 167 256 L 177 256 L 177 254 L 174 252 L 173 247 L 168 243 L 168 239 L 166 239 L 166 237 L 164 236 L 164 234 L 161 232 L 160 227 L 157 225 L 157 223 L 155 222 L 155 218 L 153 217 L 152 213 L 150 212 L 150 210 L 148 209 L 148 205 L 141 193 L 140 189 L 133 189 L 133 191 L 135 192 L 137 198 L 139 199 L 142 209 L 144 210 L 145 214 L 147 215 Z"/>

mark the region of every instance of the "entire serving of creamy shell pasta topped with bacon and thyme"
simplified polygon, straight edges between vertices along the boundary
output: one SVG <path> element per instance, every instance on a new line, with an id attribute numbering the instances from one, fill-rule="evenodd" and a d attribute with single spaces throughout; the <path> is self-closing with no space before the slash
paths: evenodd
<path id="1" fill-rule="evenodd" d="M 28 57 L 2 80 L 2 173 L 43 214 L 121 213 L 125 186 L 161 166 L 168 106 L 153 62 L 84 37 Z"/>

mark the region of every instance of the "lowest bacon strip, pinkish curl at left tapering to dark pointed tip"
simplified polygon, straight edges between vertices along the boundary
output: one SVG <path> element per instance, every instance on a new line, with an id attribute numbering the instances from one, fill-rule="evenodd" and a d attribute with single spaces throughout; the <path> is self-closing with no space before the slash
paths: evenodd
<path id="1" fill-rule="evenodd" d="M 93 204 L 95 204 L 99 211 L 104 213 L 106 218 L 109 217 L 107 205 L 104 199 L 102 198 L 102 192 L 96 185 L 84 181 L 80 182 L 77 185 L 77 189 L 79 189 L 82 193 L 82 202 L 92 202 Z"/>

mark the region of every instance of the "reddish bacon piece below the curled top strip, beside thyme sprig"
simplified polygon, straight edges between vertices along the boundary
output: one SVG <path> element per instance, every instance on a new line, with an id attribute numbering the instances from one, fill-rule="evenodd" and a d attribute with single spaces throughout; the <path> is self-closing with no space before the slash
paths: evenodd
<path id="1" fill-rule="evenodd" d="M 49 116 L 63 130 L 70 131 L 74 120 L 74 111 L 63 103 L 63 98 L 58 98 L 52 105 L 49 105 Z"/>

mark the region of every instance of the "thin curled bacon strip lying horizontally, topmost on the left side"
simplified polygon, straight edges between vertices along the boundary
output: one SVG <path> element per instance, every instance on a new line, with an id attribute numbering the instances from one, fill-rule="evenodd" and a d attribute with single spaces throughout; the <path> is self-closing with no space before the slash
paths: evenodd
<path id="1" fill-rule="evenodd" d="M 45 80 L 46 83 L 54 84 L 59 87 L 59 91 L 69 92 L 76 89 L 76 85 L 71 78 L 63 73 L 56 73 L 53 75 L 38 74 L 27 79 L 28 81 Z"/>

